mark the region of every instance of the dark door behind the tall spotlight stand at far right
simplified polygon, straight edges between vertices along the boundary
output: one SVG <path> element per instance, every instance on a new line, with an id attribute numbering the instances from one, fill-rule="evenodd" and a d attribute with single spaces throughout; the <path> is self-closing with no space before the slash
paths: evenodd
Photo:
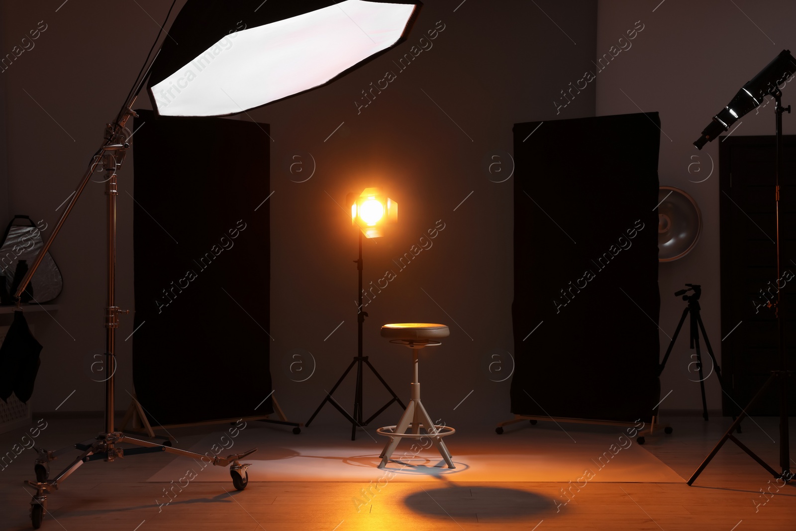
<path id="1" fill-rule="evenodd" d="M 772 124 L 773 125 L 773 124 Z M 725 415 L 745 407 L 779 365 L 775 310 L 767 306 L 782 288 L 785 340 L 790 369 L 796 321 L 796 136 L 783 138 L 781 183 L 783 278 L 776 271 L 775 138 L 732 136 L 719 144 L 721 232 L 721 353 L 725 382 L 732 398 L 723 396 Z M 790 280 L 789 280 L 790 279 Z M 791 389 L 793 389 L 793 384 Z M 790 411 L 796 393 L 790 393 Z M 751 415 L 777 415 L 776 387 L 761 397 Z"/>

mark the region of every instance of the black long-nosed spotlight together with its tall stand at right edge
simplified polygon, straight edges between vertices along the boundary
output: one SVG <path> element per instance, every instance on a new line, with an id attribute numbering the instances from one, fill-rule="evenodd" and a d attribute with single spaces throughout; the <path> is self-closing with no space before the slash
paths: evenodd
<path id="1" fill-rule="evenodd" d="M 782 255 L 781 255 L 781 233 L 780 233 L 780 225 L 779 225 L 779 202 L 782 199 L 781 197 L 781 187 L 780 187 L 780 178 L 782 177 L 782 113 L 787 111 L 790 113 L 790 105 L 787 107 L 782 107 L 782 91 L 778 88 L 779 84 L 782 84 L 787 77 L 793 76 L 794 72 L 796 72 L 796 60 L 790 56 L 790 52 L 788 50 L 783 50 L 782 53 L 775 58 L 774 61 L 771 61 L 770 64 L 766 68 L 763 69 L 753 80 L 749 83 L 744 85 L 741 89 L 742 91 L 747 92 L 749 96 L 751 96 L 752 100 L 755 100 L 756 105 L 751 106 L 747 103 L 746 107 L 743 107 L 743 113 L 739 113 L 736 111 L 732 111 L 732 103 L 739 100 L 739 96 L 736 96 L 736 99 L 731 102 L 731 106 L 725 107 L 725 111 L 729 110 L 732 112 L 732 115 L 736 115 L 736 119 L 740 116 L 745 114 L 745 112 L 751 111 L 752 108 L 755 108 L 759 103 L 762 102 L 763 97 L 761 94 L 768 94 L 772 96 L 776 102 L 775 107 L 775 138 L 776 138 L 776 152 L 775 152 L 775 205 L 776 205 L 776 225 L 777 225 L 777 235 L 776 235 L 776 247 L 777 247 L 777 278 L 780 278 L 781 271 L 782 271 Z M 741 92 L 739 92 L 739 95 Z M 725 112 L 722 111 L 722 112 Z M 721 113 L 720 113 L 721 114 Z M 718 115 L 717 115 L 718 116 Z M 703 131 L 703 137 L 697 140 L 694 145 L 701 149 L 704 146 L 704 139 L 707 138 L 708 140 L 712 140 L 715 138 L 716 127 L 713 125 L 716 123 L 716 117 L 714 117 L 713 123 L 708 126 L 708 128 Z M 708 131 L 713 127 L 714 131 Z M 709 135 L 707 133 L 710 133 Z M 790 471 L 790 441 L 789 441 L 789 433 L 788 433 L 788 378 L 792 376 L 793 371 L 787 369 L 787 359 L 786 359 L 786 352 L 785 352 L 785 328 L 784 328 L 784 315 L 782 314 L 782 290 L 777 291 L 777 300 L 775 303 L 775 314 L 777 318 L 777 334 L 778 334 L 778 354 L 779 354 L 779 367 L 778 369 L 771 371 L 771 376 L 768 377 L 768 380 L 763 384 L 763 387 L 759 389 L 759 391 L 755 394 L 755 396 L 751 399 L 749 404 L 746 408 L 739 413 L 738 417 L 736 418 L 735 422 L 732 423 L 730 428 L 724 433 L 722 438 L 719 440 L 719 443 L 716 444 L 716 447 L 708 454 L 708 457 L 704 459 L 704 461 L 700 464 L 699 468 L 693 473 L 691 478 L 688 480 L 689 486 L 693 485 L 693 482 L 696 481 L 696 478 L 699 477 L 699 474 L 702 473 L 702 470 L 708 466 L 711 462 L 713 457 L 719 452 L 724 443 L 727 440 L 732 440 L 733 443 L 743 451 L 747 453 L 752 459 L 763 468 L 768 470 L 772 476 L 778 479 L 782 479 L 785 482 L 790 481 L 794 478 L 794 474 Z M 763 393 L 767 391 L 767 389 L 774 383 L 778 384 L 778 391 L 779 391 L 779 467 L 780 472 L 774 470 L 771 466 L 769 466 L 763 459 L 760 459 L 755 452 L 751 451 L 748 447 L 746 447 L 743 443 L 741 443 L 738 439 L 736 439 L 735 435 L 733 435 L 733 431 L 739 427 L 741 421 L 746 418 L 748 415 L 747 411 L 749 411 L 763 396 Z"/>

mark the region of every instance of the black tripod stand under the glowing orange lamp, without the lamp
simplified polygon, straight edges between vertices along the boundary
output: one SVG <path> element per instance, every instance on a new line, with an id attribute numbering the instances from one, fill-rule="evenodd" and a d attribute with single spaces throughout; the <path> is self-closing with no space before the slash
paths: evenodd
<path id="1" fill-rule="evenodd" d="M 357 334 L 358 334 L 357 355 L 353 357 L 353 360 L 349 364 L 348 369 L 345 369 L 345 372 L 338 380 L 338 383 L 334 384 L 332 390 L 326 393 L 326 397 L 321 402 L 321 405 L 318 406 L 318 409 L 316 409 L 315 412 L 312 414 L 312 416 L 310 416 L 310 420 L 307 420 L 306 424 L 304 425 L 309 427 L 310 422 L 312 422 L 315 416 L 318 415 L 323 406 L 326 405 L 326 402 L 329 402 L 334 406 L 334 408 L 338 410 L 338 412 L 340 412 L 342 416 L 344 416 L 351 423 L 351 440 L 356 440 L 357 426 L 367 426 L 371 420 L 379 416 L 380 413 L 383 412 L 388 407 L 390 407 L 390 404 L 392 404 L 393 402 L 398 402 L 400 407 L 404 409 L 406 409 L 406 406 L 404 405 L 403 402 L 400 401 L 398 395 L 396 395 L 396 393 L 392 390 L 392 388 L 390 388 L 387 382 L 384 381 L 384 378 L 381 377 L 376 368 L 373 367 L 373 365 L 368 360 L 368 357 L 362 355 L 362 326 L 365 324 L 365 318 L 368 316 L 368 312 L 362 311 L 362 232 L 359 233 L 359 258 L 357 260 L 353 260 L 353 262 L 354 264 L 357 264 L 357 271 L 359 273 L 359 292 L 358 292 L 359 306 L 357 306 L 358 309 L 357 310 Z M 375 374 L 376 377 L 379 379 L 381 385 L 384 385 L 384 388 L 386 388 L 392 395 L 392 400 L 388 401 L 387 404 L 384 404 L 377 412 L 369 416 L 367 420 L 362 420 L 362 364 L 363 363 L 368 366 L 371 372 Z M 357 389 L 356 391 L 354 391 L 354 396 L 353 396 L 353 416 L 352 416 L 349 415 L 349 413 L 346 412 L 345 409 L 341 408 L 340 404 L 338 404 L 337 400 L 334 400 L 332 395 L 334 395 L 334 392 L 340 386 L 342 381 L 345 380 L 345 377 L 348 376 L 348 373 L 351 372 L 351 369 L 353 369 L 354 365 L 357 365 Z"/>

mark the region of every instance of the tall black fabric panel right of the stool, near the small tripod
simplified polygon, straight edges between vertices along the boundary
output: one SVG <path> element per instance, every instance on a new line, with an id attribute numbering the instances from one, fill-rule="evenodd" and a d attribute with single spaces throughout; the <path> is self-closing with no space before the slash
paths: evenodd
<path id="1" fill-rule="evenodd" d="M 651 419 L 659 127 L 657 113 L 515 124 L 514 414 Z"/>

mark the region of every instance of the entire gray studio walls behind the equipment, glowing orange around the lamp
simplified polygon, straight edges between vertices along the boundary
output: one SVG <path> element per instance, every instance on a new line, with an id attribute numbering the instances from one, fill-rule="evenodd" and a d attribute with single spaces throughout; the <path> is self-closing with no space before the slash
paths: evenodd
<path id="1" fill-rule="evenodd" d="M 48 25 L 35 47 L 0 73 L 8 168 L 0 190 L 7 185 L 14 213 L 45 219 L 51 226 L 57 220 L 63 209 L 57 207 L 72 192 L 101 142 L 103 124 L 118 111 L 142 64 L 158 29 L 152 19 L 162 21 L 166 14 L 162 3 L 140 4 L 143 9 L 135 2 L 0 6 L 3 54 L 38 21 Z M 684 260 L 661 265 L 661 328 L 671 334 L 682 308 L 669 292 L 684 282 L 702 282 L 715 287 L 705 294 L 704 318 L 713 344 L 720 348 L 717 170 L 705 182 L 689 182 L 708 174 L 689 174 L 694 162 L 689 157 L 696 154 L 690 143 L 740 84 L 788 47 L 786 23 L 793 18 L 779 12 L 793 14 L 794 6 L 777 2 L 752 13 L 751 5 L 739 4 L 777 43 L 772 45 L 735 6 L 724 2 L 694 6 L 667 0 L 654 13 L 657 2 L 536 4 L 427 2 L 415 33 L 399 49 L 326 88 L 238 117 L 270 123 L 274 138 L 268 330 L 274 338 L 274 387 L 292 418 L 306 420 L 355 353 L 356 268 L 351 260 L 356 258 L 357 233 L 335 201 L 342 203 L 346 193 L 371 185 L 381 185 L 398 201 L 400 223 L 390 236 L 365 242 L 365 283 L 376 282 L 387 269 L 397 272 L 366 308 L 365 353 L 396 392 L 407 396 L 408 350 L 385 343 L 378 326 L 447 323 L 451 338 L 422 356 L 423 396 L 433 404 L 432 414 L 451 424 L 463 416 L 508 418 L 509 381 L 491 381 L 498 378 L 486 366 L 494 349 L 513 349 L 512 184 L 510 179 L 494 182 L 510 172 L 511 127 L 522 121 L 638 111 L 619 88 L 644 111 L 661 112 L 662 129 L 673 139 L 661 135 L 661 184 L 691 193 L 704 216 L 700 246 Z M 638 20 L 645 27 L 633 47 L 556 112 L 560 91 L 593 68 L 591 61 Z M 361 91 L 386 70 L 395 70 L 392 61 L 437 21 L 445 29 L 432 41 L 433 48 L 396 72 L 397 79 L 357 114 L 354 102 Z M 115 24 L 123 27 L 117 32 Z M 117 37 L 107 37 L 113 33 Z M 148 101 L 138 104 L 149 107 Z M 765 116 L 749 116 L 741 131 L 769 134 L 770 122 Z M 793 132 L 787 117 L 786 132 Z M 621 139 L 617 143 L 621 146 Z M 716 149 L 711 145 L 700 157 L 706 160 L 711 154 L 717 162 Z M 307 172 L 312 163 L 306 154 L 314 158 L 315 172 L 306 182 L 296 181 L 307 174 L 288 169 L 295 154 L 302 154 Z M 201 156 L 201 148 L 195 154 L 174 154 L 184 156 Z M 489 173 L 490 162 L 496 160 L 507 173 Z M 128 158 L 119 186 L 117 268 L 119 304 L 133 308 L 133 201 L 127 195 L 134 195 L 131 162 Z M 257 164 L 256 154 L 252 164 Z M 189 176 L 175 174 L 174 182 L 164 186 L 178 182 L 190 182 Z M 213 185 L 230 182 L 244 186 L 245 176 L 220 176 Z M 398 271 L 392 259 L 408 252 L 438 220 L 445 228 L 433 247 Z M 91 185 L 53 246 L 65 279 L 60 310 L 52 318 L 29 314 L 45 345 L 33 397 L 36 410 L 53 411 L 72 390 L 75 394 L 59 411 L 101 408 L 102 385 L 91 381 L 87 365 L 103 352 L 104 225 L 103 186 Z M 249 271 L 256 271 L 256 264 Z M 212 323 L 202 322 L 201 309 L 190 310 L 198 323 L 212 328 Z M 121 405 L 127 404 L 124 390 L 132 391 L 132 339 L 123 341 L 131 331 L 132 319 L 123 318 L 118 349 Z M 296 353 L 303 357 L 292 357 Z M 193 361 L 190 353 L 178 355 Z M 673 362 L 687 357 L 683 349 Z M 291 373 L 296 359 L 303 361 L 306 372 L 296 373 L 294 365 Z M 218 353 L 217 364 L 223 361 L 224 353 Z M 510 363 L 505 363 L 508 369 Z M 312 365 L 312 376 L 298 381 Z M 247 381 L 256 385 L 256 375 Z M 369 414 L 386 393 L 373 381 L 366 385 Z M 669 408 L 699 408 L 695 386 L 681 370 L 668 369 L 663 386 L 665 392 L 676 389 L 665 403 Z M 263 396 L 268 392 L 263 389 Z M 717 407 L 719 393 L 712 384 L 710 392 L 711 405 Z M 351 396 L 349 385 L 338 399 L 350 408 Z M 396 410 L 390 411 L 383 420 L 396 416 Z M 337 417 L 327 407 L 318 422 L 338 422 Z"/>

